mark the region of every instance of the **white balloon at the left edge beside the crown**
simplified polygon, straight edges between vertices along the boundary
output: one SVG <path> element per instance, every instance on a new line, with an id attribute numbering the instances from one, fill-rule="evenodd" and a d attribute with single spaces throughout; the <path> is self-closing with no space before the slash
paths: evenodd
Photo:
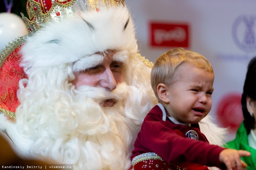
<path id="1" fill-rule="evenodd" d="M 0 52 L 9 42 L 28 33 L 20 16 L 10 12 L 0 13 Z"/>

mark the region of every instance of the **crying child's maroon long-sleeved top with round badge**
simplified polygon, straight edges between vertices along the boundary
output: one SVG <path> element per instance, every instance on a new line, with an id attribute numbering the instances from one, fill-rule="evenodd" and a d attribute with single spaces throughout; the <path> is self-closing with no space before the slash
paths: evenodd
<path id="1" fill-rule="evenodd" d="M 154 152 L 169 163 L 175 162 L 182 165 L 185 160 L 195 164 L 224 168 L 219 161 L 219 154 L 225 148 L 209 144 L 201 133 L 199 125 L 192 126 L 181 124 L 166 116 L 163 106 L 156 105 L 142 123 L 131 158 Z"/>

